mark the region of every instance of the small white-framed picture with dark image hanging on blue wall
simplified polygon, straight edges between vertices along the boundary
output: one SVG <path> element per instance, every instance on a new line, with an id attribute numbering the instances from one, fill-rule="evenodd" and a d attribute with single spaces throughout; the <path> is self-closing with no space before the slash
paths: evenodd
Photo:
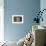
<path id="1" fill-rule="evenodd" d="M 14 24 L 24 23 L 24 15 L 12 15 L 12 23 Z"/>

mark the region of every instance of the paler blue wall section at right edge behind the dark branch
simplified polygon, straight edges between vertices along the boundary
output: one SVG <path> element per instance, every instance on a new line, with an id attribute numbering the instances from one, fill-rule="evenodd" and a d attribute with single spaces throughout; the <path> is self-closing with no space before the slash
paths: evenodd
<path id="1" fill-rule="evenodd" d="M 40 10 L 42 11 L 43 9 L 46 9 L 46 0 L 41 0 L 40 1 Z M 40 22 L 40 25 L 45 26 L 46 27 L 46 10 L 43 12 L 43 22 Z"/>

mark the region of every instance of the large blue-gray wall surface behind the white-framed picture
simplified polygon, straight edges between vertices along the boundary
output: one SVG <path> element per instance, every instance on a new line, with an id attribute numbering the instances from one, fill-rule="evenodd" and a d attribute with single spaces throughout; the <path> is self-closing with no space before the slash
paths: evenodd
<path id="1" fill-rule="evenodd" d="M 31 30 L 35 13 L 40 9 L 40 0 L 5 0 L 4 2 L 5 40 L 17 41 Z M 24 15 L 24 24 L 12 24 L 12 15 Z"/>

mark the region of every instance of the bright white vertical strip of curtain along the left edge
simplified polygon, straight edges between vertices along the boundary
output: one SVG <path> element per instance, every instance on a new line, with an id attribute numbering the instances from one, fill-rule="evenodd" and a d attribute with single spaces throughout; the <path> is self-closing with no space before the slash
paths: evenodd
<path id="1" fill-rule="evenodd" d="M 0 0 L 0 42 L 4 41 L 4 0 Z"/>

